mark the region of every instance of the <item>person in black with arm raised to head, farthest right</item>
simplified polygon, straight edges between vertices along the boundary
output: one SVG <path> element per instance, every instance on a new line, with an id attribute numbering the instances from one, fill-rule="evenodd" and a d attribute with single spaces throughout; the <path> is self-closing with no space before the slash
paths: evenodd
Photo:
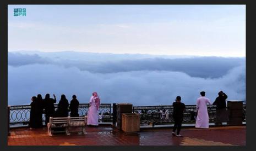
<path id="1" fill-rule="evenodd" d="M 227 111 L 226 111 L 226 99 L 227 99 L 227 95 L 223 92 L 220 91 L 218 93 L 218 97 L 216 97 L 213 105 L 216 105 L 216 125 L 221 125 L 222 122 L 227 122 L 228 118 L 227 118 Z"/>

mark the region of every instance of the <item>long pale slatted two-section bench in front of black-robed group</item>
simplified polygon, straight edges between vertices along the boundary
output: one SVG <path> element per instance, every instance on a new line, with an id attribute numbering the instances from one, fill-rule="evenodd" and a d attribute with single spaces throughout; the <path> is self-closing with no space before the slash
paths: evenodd
<path id="1" fill-rule="evenodd" d="M 86 126 L 87 116 L 84 117 L 64 117 L 64 118 L 53 118 L 50 117 L 48 127 L 48 135 L 52 136 L 52 132 L 66 132 L 67 135 L 69 133 L 69 127 L 81 127 L 81 132 L 86 134 L 85 126 Z M 56 128 L 64 128 L 65 131 L 53 131 Z M 78 131 L 72 131 L 78 132 Z M 80 131 L 79 131 L 80 132 Z"/>

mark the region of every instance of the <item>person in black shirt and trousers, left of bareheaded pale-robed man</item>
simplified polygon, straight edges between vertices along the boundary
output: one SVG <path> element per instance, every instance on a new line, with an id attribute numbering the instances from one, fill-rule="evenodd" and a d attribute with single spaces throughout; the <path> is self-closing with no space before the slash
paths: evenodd
<path id="1" fill-rule="evenodd" d="M 185 107 L 184 103 L 181 103 L 181 97 L 180 96 L 176 97 L 176 102 L 173 102 L 172 106 L 173 106 L 172 117 L 174 119 L 174 126 L 173 126 L 173 130 L 172 130 L 172 135 L 181 137 L 179 132 L 181 131 L 181 124 L 182 124 L 182 121 L 183 121 L 183 112 L 184 112 L 186 107 Z M 177 129 L 177 135 L 175 135 L 176 129 Z"/>

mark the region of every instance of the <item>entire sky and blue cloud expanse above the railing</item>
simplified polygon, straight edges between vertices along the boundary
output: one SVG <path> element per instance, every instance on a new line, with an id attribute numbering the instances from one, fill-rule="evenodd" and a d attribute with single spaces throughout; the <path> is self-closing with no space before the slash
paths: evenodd
<path id="1" fill-rule="evenodd" d="M 14 16 L 13 8 L 26 8 Z M 8 5 L 8 104 L 246 101 L 245 5 Z"/>

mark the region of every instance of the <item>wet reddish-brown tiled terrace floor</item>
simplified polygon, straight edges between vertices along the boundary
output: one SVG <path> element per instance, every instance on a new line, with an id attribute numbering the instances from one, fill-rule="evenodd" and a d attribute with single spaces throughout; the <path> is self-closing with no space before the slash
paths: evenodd
<path id="1" fill-rule="evenodd" d="M 11 129 L 9 146 L 230 146 L 246 145 L 246 126 L 183 128 L 183 137 L 171 135 L 171 128 L 141 129 L 138 135 L 126 135 L 112 126 L 86 127 L 87 135 L 56 133 L 47 135 L 46 127 Z"/>

